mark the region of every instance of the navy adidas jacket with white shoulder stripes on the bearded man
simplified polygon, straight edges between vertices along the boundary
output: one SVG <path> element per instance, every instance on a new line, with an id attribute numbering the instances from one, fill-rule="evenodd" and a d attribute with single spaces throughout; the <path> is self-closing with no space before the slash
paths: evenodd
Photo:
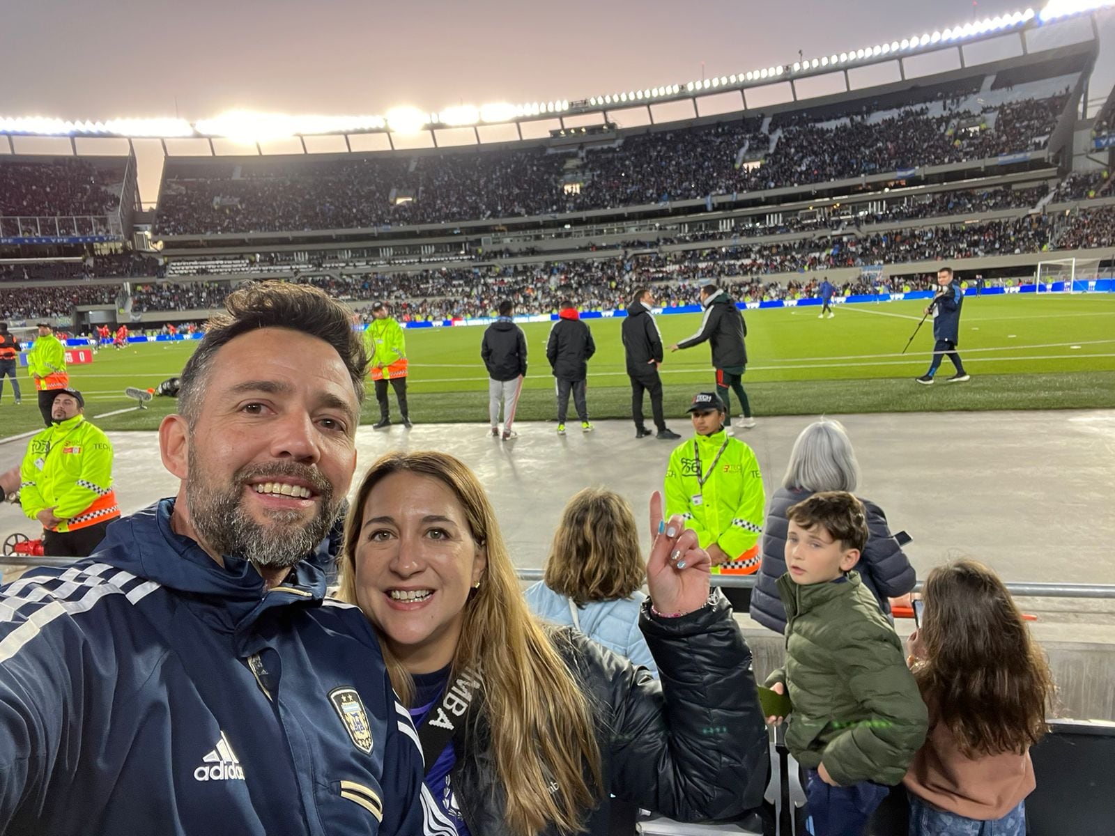
<path id="1" fill-rule="evenodd" d="M 173 499 L 0 590 L 0 834 L 423 834 L 421 756 L 359 610 L 264 591 Z"/>

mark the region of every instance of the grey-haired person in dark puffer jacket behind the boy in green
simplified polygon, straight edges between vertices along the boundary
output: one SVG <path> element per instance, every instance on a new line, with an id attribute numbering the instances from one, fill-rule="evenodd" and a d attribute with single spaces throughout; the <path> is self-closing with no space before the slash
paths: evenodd
<path id="1" fill-rule="evenodd" d="M 776 585 L 786 573 L 786 532 L 789 527 L 786 512 L 822 490 L 854 492 L 859 480 L 860 465 L 840 421 L 822 419 L 802 430 L 789 454 L 782 487 L 767 505 L 763 561 L 750 609 L 752 618 L 759 624 L 776 633 L 786 630 L 786 610 Z M 891 534 L 883 509 L 863 497 L 860 500 L 866 511 L 869 536 L 855 568 L 863 585 L 879 601 L 879 609 L 889 616 L 888 599 L 910 592 L 917 577 L 899 539 Z"/>

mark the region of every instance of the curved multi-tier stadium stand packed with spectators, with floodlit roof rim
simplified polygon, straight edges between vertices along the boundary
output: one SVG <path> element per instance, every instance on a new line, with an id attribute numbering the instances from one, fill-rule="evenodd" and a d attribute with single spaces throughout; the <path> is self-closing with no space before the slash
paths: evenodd
<path id="1" fill-rule="evenodd" d="M 166 156 L 153 211 L 134 152 L 76 155 L 76 137 L 120 132 L 66 124 L 75 155 L 48 157 L 16 153 L 37 124 L 0 119 L 12 152 L 0 155 L 0 315 L 76 330 L 196 320 L 264 278 L 358 307 L 395 298 L 425 319 L 484 315 L 501 295 L 532 313 L 558 295 L 617 305 L 646 281 L 680 302 L 705 280 L 756 300 L 808 294 L 822 274 L 845 292 L 894 290 L 942 260 L 989 281 L 1074 257 L 1108 275 L 1115 91 L 1084 115 L 1098 48 L 1095 13 L 1005 16 L 488 114 L 510 116 L 512 142 L 485 142 L 483 109 L 318 124 L 343 143 L 324 154 L 299 134 L 297 154 L 258 140 L 222 156 L 212 134 L 239 135 L 242 119 L 169 124 L 207 153 Z M 864 70 L 873 80 L 857 86 Z M 679 101 L 692 115 L 661 120 Z M 428 147 L 396 147 L 400 127 Z M 444 146 L 462 132 L 469 144 Z M 368 143 L 382 149 L 353 149 Z"/>

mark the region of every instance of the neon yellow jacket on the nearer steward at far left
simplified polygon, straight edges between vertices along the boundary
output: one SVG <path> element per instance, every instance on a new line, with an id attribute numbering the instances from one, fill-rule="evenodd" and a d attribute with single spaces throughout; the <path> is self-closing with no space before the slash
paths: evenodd
<path id="1" fill-rule="evenodd" d="M 113 445 L 85 416 L 75 416 L 37 434 L 19 470 L 19 504 L 28 517 L 54 508 L 74 532 L 120 515 L 113 490 Z"/>

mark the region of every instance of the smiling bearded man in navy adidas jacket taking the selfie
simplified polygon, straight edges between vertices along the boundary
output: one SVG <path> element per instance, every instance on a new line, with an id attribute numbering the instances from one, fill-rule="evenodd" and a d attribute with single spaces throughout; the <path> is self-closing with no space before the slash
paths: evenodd
<path id="1" fill-rule="evenodd" d="M 356 467 L 360 339 L 306 285 L 227 308 L 158 430 L 177 496 L 0 589 L 0 833 L 426 832 L 376 636 L 306 560 Z"/>

